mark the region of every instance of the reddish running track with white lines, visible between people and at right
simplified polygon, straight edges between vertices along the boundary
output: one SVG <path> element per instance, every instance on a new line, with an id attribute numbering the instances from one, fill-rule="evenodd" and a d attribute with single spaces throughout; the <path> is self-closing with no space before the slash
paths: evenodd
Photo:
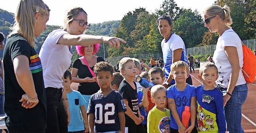
<path id="1" fill-rule="evenodd" d="M 191 73 L 194 86 L 202 85 L 198 78 L 199 70 L 195 69 L 195 73 Z M 242 106 L 242 127 L 246 133 L 256 133 L 256 81 L 254 83 L 247 83 L 248 97 Z M 77 90 L 78 83 L 72 83 L 71 88 Z"/>

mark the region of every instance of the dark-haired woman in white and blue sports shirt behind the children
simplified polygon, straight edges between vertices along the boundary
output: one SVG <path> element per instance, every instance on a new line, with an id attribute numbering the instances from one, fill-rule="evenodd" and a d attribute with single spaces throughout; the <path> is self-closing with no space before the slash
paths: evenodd
<path id="1" fill-rule="evenodd" d="M 179 60 L 188 63 L 185 44 L 180 36 L 172 33 L 172 19 L 169 16 L 160 16 L 157 21 L 158 30 L 164 37 L 161 42 L 163 60 L 164 60 L 164 74 L 167 81 L 164 87 L 175 84 L 174 79 L 170 76 L 171 65 Z M 192 85 L 192 79 L 189 76 L 186 83 Z"/>

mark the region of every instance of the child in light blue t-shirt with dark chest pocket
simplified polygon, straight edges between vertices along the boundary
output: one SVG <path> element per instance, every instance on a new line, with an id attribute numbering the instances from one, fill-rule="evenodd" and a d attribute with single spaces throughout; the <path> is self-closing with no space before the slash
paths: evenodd
<path id="1" fill-rule="evenodd" d="M 68 132 L 76 132 L 76 133 L 88 133 L 88 120 L 86 114 L 86 108 L 84 106 L 85 100 L 82 94 L 78 91 L 72 90 L 70 88 L 70 84 L 73 82 L 70 71 L 65 71 L 63 86 L 66 89 L 68 96 L 68 104 L 70 109 L 70 123 L 68 125 Z M 81 117 L 81 113 L 83 119 Z"/>

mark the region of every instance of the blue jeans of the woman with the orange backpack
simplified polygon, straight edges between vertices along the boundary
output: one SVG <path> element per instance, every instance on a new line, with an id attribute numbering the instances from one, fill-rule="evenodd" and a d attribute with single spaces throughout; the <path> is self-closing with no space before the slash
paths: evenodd
<path id="1" fill-rule="evenodd" d="M 237 85 L 232 96 L 224 107 L 227 130 L 229 133 L 244 133 L 241 125 L 242 105 L 244 104 L 248 94 L 247 84 Z"/>

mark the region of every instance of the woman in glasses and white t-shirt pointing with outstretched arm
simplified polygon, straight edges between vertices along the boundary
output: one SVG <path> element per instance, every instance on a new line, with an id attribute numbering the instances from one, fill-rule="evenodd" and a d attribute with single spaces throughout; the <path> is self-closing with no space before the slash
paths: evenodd
<path id="1" fill-rule="evenodd" d="M 66 14 L 64 29 L 52 31 L 42 45 L 39 57 L 46 88 L 46 133 L 68 132 L 70 111 L 62 77 L 71 64 L 72 46 L 91 46 L 104 42 L 111 47 L 119 47 L 120 42 L 126 43 L 120 38 L 83 34 L 88 28 L 87 13 L 82 8 L 73 8 Z"/>

